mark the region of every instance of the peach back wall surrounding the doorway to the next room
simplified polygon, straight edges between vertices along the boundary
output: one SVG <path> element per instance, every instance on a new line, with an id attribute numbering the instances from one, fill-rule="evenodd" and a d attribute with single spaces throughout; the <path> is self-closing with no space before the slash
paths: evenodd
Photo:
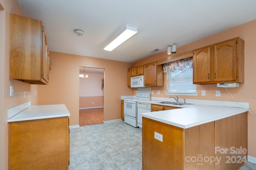
<path id="1" fill-rule="evenodd" d="M 65 104 L 70 125 L 79 125 L 79 66 L 103 68 L 104 121 L 121 119 L 120 96 L 133 95 L 127 87 L 127 70 L 132 63 L 50 51 L 50 83 L 38 85 L 38 104 Z"/>

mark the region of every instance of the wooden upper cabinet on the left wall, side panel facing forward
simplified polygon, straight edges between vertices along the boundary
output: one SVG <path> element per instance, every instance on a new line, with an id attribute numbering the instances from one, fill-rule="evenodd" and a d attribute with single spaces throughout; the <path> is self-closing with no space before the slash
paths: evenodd
<path id="1" fill-rule="evenodd" d="M 42 21 L 10 14 L 9 78 L 48 84 L 50 59 Z"/>

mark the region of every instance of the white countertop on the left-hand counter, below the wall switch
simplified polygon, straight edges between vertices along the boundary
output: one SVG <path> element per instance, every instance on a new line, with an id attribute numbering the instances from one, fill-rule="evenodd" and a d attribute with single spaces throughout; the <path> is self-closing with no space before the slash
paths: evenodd
<path id="1" fill-rule="evenodd" d="M 70 116 L 70 112 L 64 104 L 39 105 L 30 106 L 20 113 L 10 117 L 7 121 L 14 122 L 64 116 Z"/>

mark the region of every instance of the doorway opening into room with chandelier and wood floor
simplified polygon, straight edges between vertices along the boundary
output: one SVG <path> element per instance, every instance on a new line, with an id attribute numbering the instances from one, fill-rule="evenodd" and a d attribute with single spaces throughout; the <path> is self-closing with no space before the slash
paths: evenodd
<path id="1" fill-rule="evenodd" d="M 79 66 L 79 125 L 103 123 L 104 69 Z"/>

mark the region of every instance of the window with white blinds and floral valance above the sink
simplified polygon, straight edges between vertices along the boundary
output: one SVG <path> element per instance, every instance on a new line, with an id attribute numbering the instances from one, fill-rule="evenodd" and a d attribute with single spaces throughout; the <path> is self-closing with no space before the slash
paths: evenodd
<path id="1" fill-rule="evenodd" d="M 197 95 L 192 67 L 192 57 L 164 64 L 164 72 L 167 73 L 166 94 Z"/>

